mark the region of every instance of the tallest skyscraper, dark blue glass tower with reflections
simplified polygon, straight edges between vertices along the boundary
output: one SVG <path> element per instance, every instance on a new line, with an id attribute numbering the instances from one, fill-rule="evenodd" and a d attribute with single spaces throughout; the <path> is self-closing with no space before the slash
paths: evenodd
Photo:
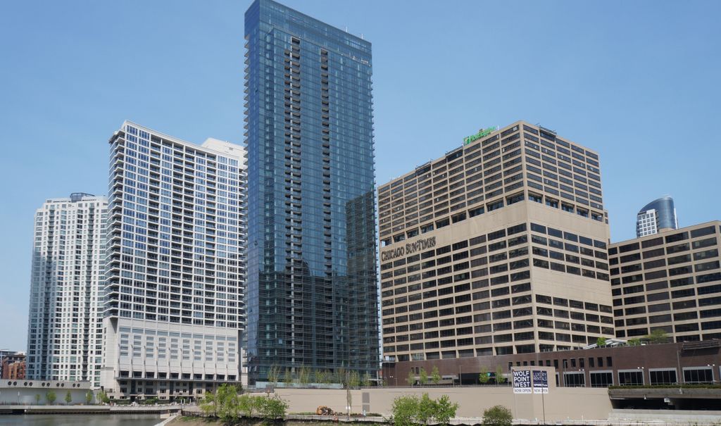
<path id="1" fill-rule="evenodd" d="M 249 380 L 379 363 L 371 43 L 270 0 L 245 14 Z"/>

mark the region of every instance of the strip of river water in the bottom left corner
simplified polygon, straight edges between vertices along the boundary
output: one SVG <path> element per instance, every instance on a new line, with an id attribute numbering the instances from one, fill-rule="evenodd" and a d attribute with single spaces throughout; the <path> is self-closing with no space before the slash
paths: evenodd
<path id="1" fill-rule="evenodd" d="M 154 426 L 159 414 L 3 414 L 0 426 Z"/>

